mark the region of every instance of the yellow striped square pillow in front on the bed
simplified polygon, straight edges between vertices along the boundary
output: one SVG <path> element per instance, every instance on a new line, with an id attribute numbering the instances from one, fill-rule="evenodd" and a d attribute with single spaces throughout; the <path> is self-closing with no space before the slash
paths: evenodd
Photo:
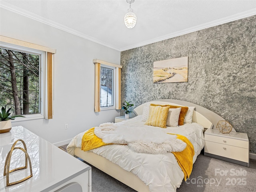
<path id="1" fill-rule="evenodd" d="M 148 119 L 145 125 L 166 128 L 166 120 L 168 117 L 169 106 L 149 106 Z"/>

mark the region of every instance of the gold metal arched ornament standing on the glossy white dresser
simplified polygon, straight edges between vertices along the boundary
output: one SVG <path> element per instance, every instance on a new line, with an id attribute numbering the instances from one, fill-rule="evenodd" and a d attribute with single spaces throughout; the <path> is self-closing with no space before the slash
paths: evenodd
<path id="1" fill-rule="evenodd" d="M 20 147 L 15 147 L 15 145 L 17 144 L 17 142 L 21 141 L 23 146 L 24 146 L 24 149 L 23 148 L 20 148 Z M 13 170 L 10 170 L 10 162 L 11 162 L 11 158 L 12 158 L 12 152 L 16 149 L 20 149 L 22 150 L 24 153 L 25 153 L 25 166 L 24 167 L 19 167 L 19 168 L 15 168 Z M 16 182 L 12 182 L 12 183 L 9 183 L 9 174 L 11 172 L 14 172 L 14 171 L 17 171 L 17 170 L 21 170 L 21 169 L 26 169 L 28 168 L 28 162 L 29 162 L 29 167 L 30 167 L 30 176 L 22 179 L 22 180 L 18 180 Z M 28 152 L 27 152 L 27 147 L 26 147 L 26 144 L 25 142 L 22 140 L 22 139 L 18 139 L 16 140 L 16 142 L 14 142 L 14 144 L 12 145 L 12 148 L 11 150 L 8 152 L 7 154 L 7 157 L 6 157 L 6 160 L 5 160 L 5 164 L 4 164 L 4 176 L 6 176 L 6 186 L 9 186 L 9 185 L 13 185 L 13 184 L 17 184 L 17 183 L 20 183 L 20 182 L 23 182 L 25 180 L 27 180 L 28 178 L 32 177 L 32 166 L 31 166 L 31 161 L 30 161 L 30 157 L 28 155 Z"/>

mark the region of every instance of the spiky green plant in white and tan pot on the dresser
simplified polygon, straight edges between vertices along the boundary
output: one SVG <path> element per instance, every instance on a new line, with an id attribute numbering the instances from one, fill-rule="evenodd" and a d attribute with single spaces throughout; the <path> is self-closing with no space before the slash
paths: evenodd
<path id="1" fill-rule="evenodd" d="M 10 116 L 10 110 L 11 108 L 6 111 L 6 108 L 2 107 L 0 111 L 0 133 L 9 132 L 12 129 L 11 120 L 14 120 L 16 117 L 24 117 L 21 115 Z"/>

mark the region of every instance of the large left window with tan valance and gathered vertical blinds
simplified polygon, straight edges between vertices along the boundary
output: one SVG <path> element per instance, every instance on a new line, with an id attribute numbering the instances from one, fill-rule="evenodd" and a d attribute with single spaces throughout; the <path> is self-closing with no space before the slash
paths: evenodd
<path id="1" fill-rule="evenodd" d="M 52 54 L 56 50 L 0 37 L 0 107 L 27 117 L 16 120 L 52 118 Z"/>

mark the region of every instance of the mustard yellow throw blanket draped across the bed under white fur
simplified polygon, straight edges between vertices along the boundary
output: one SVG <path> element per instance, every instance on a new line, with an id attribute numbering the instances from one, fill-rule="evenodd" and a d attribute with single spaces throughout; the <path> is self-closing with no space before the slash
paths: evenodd
<path id="1" fill-rule="evenodd" d="M 171 134 L 171 133 L 168 133 Z M 189 178 L 192 168 L 193 168 L 193 156 L 194 156 L 194 147 L 191 142 L 182 135 L 177 135 L 177 138 L 182 140 L 187 144 L 186 148 L 182 152 L 172 152 L 178 161 L 180 168 L 184 173 L 184 180 L 186 181 Z M 82 138 L 82 147 L 81 150 L 89 151 L 104 145 L 112 145 L 112 143 L 104 143 L 101 138 L 98 138 L 94 134 L 94 127 L 90 128 L 87 132 L 84 133 Z"/>

